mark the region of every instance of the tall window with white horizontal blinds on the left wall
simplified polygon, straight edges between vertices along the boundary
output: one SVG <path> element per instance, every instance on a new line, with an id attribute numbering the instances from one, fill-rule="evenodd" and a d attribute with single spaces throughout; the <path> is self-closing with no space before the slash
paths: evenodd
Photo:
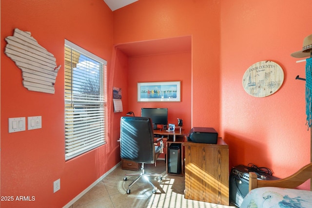
<path id="1" fill-rule="evenodd" d="M 105 144 L 106 61 L 65 40 L 65 160 Z"/>

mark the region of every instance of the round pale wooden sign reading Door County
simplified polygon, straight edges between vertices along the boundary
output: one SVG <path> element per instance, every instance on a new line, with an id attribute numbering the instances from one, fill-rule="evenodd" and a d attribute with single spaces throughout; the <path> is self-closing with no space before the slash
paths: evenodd
<path id="1" fill-rule="evenodd" d="M 283 84 L 283 69 L 273 61 L 259 61 L 250 66 L 243 76 L 244 90 L 255 97 L 274 94 Z"/>

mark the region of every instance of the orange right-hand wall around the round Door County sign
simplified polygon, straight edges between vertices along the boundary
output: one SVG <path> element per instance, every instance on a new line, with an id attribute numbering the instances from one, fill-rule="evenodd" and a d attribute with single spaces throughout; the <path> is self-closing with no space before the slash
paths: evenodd
<path id="1" fill-rule="evenodd" d="M 310 131 L 305 125 L 305 63 L 292 52 L 312 34 L 311 0 L 222 0 L 222 134 L 233 165 L 254 163 L 285 177 L 310 162 Z M 255 62 L 271 60 L 284 70 L 275 94 L 257 98 L 242 87 Z"/>

